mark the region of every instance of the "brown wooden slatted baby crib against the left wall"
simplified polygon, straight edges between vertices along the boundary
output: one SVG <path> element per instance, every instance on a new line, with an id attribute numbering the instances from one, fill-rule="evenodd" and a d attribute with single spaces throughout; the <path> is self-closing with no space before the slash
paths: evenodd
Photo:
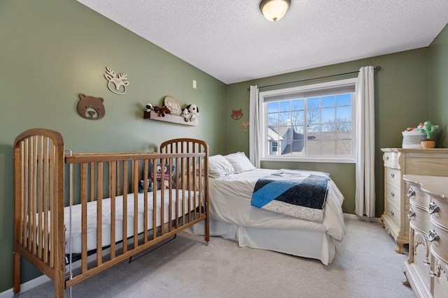
<path id="1" fill-rule="evenodd" d="M 200 221 L 208 244 L 207 179 L 194 174 L 207 177 L 208 156 L 207 143 L 194 139 L 169 140 L 158 153 L 69 154 L 56 131 L 20 134 L 14 144 L 14 292 L 20 292 L 20 257 L 54 281 L 55 297 L 64 297 L 66 288 Z M 154 189 L 146 189 L 158 167 L 167 167 L 165 177 L 176 186 L 165 188 L 162 174 L 156 191 L 153 174 Z"/>

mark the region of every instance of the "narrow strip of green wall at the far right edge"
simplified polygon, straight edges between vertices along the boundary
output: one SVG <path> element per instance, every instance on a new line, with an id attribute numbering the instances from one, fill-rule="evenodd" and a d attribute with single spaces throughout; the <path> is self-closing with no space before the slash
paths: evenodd
<path id="1" fill-rule="evenodd" d="M 448 147 L 448 26 L 429 47 L 429 114 L 433 124 L 440 126 L 437 143 Z"/>

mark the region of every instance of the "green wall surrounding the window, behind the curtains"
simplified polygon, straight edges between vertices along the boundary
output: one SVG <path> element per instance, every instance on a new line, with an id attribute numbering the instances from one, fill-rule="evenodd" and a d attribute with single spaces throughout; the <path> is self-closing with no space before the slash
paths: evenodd
<path id="1" fill-rule="evenodd" d="M 401 132 L 405 128 L 416 126 L 428 118 L 428 48 L 230 84 L 228 86 L 228 101 L 226 107 L 228 112 L 228 117 L 226 117 L 226 124 L 228 126 L 227 152 L 244 151 L 248 154 L 248 133 L 242 132 L 240 125 L 241 121 L 248 120 L 248 87 L 250 85 L 257 84 L 258 86 L 266 86 L 282 82 L 325 77 L 339 73 L 349 73 L 358 70 L 362 66 L 369 65 L 381 66 L 381 70 L 375 72 L 374 78 L 376 215 L 377 217 L 381 216 L 384 211 L 384 167 L 380 149 L 401 147 Z M 444 71 L 446 73 L 446 70 Z M 338 79 L 349 77 L 353 77 L 353 75 L 341 76 Z M 315 80 L 301 84 L 323 81 Z M 288 84 L 285 87 L 297 85 L 299 84 Z M 269 89 L 262 89 L 262 91 L 265 90 Z M 230 114 L 232 114 L 232 110 L 239 109 L 242 110 L 244 117 L 239 121 L 235 121 L 230 117 Z M 345 197 L 342 206 L 344 212 L 354 214 L 354 164 L 262 162 L 261 165 L 262 167 L 268 168 L 288 167 L 330 172 L 332 179 Z"/>

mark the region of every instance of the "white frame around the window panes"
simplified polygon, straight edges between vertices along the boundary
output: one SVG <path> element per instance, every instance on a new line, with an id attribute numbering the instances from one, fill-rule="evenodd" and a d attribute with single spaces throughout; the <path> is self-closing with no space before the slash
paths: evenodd
<path id="1" fill-rule="evenodd" d="M 269 152 L 267 152 L 267 111 L 265 103 L 265 98 L 269 98 L 272 96 L 282 96 L 288 94 L 295 94 L 301 92 L 308 91 L 319 91 L 325 89 L 332 89 L 337 87 L 351 87 L 353 86 L 353 90 L 356 86 L 356 78 L 346 79 L 346 80 L 337 80 L 332 82 L 324 82 L 318 84 L 309 84 L 300 87 L 292 87 L 285 89 L 276 89 L 270 91 L 262 91 L 258 96 L 259 100 L 259 113 L 260 113 L 260 142 L 262 146 L 260 146 L 260 160 L 261 161 L 293 161 L 293 162 L 312 162 L 312 163 L 356 163 L 356 98 L 354 96 L 351 102 L 351 156 L 269 156 Z M 304 140 L 307 142 L 307 140 Z"/>

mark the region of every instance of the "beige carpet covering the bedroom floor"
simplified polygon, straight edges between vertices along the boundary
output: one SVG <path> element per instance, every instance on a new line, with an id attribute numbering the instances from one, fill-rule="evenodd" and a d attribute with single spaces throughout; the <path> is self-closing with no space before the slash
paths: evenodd
<path id="1" fill-rule="evenodd" d="M 72 297 L 414 297 L 402 285 L 407 255 L 379 223 L 346 219 L 344 255 L 318 260 L 239 248 L 235 241 L 181 233 L 130 264 L 121 262 L 72 288 Z M 306 245 L 306 244 L 304 244 Z M 66 290 L 66 297 L 69 297 Z M 45 283 L 20 297 L 52 297 Z"/>

